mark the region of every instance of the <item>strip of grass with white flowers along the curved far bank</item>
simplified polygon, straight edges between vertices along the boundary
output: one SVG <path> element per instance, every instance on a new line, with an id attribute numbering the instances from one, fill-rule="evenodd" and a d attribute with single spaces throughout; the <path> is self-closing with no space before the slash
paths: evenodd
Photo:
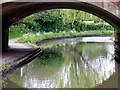
<path id="1" fill-rule="evenodd" d="M 77 32 L 75 30 L 72 30 L 70 32 L 59 32 L 59 33 L 41 33 L 38 32 L 36 34 L 30 32 L 27 34 L 22 35 L 22 38 L 20 40 L 18 40 L 16 43 L 32 43 L 32 44 L 36 44 L 37 40 L 42 40 L 44 38 L 49 38 L 49 37 L 55 37 L 55 36 L 60 36 L 60 35 L 79 35 L 79 34 L 99 34 L 99 33 L 114 33 L 114 31 L 109 31 L 109 30 L 90 30 L 90 31 L 81 31 L 81 32 Z"/>

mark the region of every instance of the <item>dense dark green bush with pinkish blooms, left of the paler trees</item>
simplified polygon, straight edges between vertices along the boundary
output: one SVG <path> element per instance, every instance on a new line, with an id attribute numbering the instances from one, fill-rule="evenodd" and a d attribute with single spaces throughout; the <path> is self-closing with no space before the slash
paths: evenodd
<path id="1" fill-rule="evenodd" d="M 60 10 L 46 10 L 29 17 L 17 23 L 18 26 L 24 26 L 34 32 L 58 32 L 64 30 L 62 17 L 59 14 Z"/>

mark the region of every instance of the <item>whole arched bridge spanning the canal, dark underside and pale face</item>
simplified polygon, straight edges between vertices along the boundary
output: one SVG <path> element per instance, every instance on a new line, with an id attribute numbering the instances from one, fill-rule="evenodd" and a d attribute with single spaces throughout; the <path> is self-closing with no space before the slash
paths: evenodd
<path id="1" fill-rule="evenodd" d="M 48 9 L 77 9 L 105 20 L 115 28 L 115 60 L 120 62 L 120 1 L 119 0 L 4 0 L 2 5 L 2 50 L 8 48 L 8 28 L 15 22 Z"/>

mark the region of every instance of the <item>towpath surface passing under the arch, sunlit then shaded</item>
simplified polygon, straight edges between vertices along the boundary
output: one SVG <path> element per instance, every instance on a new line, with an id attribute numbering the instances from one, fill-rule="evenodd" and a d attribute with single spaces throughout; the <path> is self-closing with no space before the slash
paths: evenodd
<path id="1" fill-rule="evenodd" d="M 24 43 L 15 43 L 20 38 L 14 38 L 9 40 L 9 47 L 7 51 L 2 52 L 2 60 L 0 60 L 0 66 L 2 65 L 2 62 L 7 59 L 7 62 L 10 63 L 11 61 L 16 61 L 20 57 L 23 57 L 39 47 L 32 47 Z"/>

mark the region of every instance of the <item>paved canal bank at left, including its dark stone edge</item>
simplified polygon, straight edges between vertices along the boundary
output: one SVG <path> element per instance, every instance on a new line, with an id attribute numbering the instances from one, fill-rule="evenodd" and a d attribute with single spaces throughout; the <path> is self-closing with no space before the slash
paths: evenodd
<path id="1" fill-rule="evenodd" d="M 23 43 L 15 43 L 20 38 L 9 40 L 9 47 L 6 51 L 2 52 L 2 60 L 0 71 L 0 79 L 8 76 L 13 71 L 17 70 L 20 66 L 33 60 L 39 53 L 40 48 L 32 47 Z M 3 65 L 2 65 L 3 64 Z M 6 68 L 4 67 L 6 65 Z"/>

